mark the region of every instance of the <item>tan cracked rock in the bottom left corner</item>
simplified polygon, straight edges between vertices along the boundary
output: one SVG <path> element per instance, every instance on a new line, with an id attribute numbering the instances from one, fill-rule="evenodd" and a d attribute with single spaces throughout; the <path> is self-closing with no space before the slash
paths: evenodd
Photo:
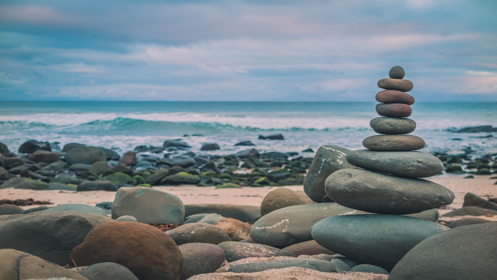
<path id="1" fill-rule="evenodd" d="M 14 249 L 0 249 L 0 279 L 74 279 L 85 277 L 39 257 Z"/>

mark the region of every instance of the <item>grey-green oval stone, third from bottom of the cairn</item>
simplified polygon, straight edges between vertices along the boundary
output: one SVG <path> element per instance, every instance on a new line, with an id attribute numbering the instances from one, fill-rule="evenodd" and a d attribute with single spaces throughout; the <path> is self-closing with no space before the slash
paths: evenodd
<path id="1" fill-rule="evenodd" d="M 424 178 L 443 171 L 443 163 L 437 157 L 423 152 L 385 152 L 355 150 L 347 155 L 347 161 L 357 167 L 395 176 Z"/>

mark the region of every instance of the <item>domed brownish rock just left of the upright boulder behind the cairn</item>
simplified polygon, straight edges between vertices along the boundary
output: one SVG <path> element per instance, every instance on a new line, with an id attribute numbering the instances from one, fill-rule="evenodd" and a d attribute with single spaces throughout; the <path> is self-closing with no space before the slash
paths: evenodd
<path id="1" fill-rule="evenodd" d="M 305 193 L 293 191 L 286 187 L 271 190 L 260 203 L 260 214 L 264 216 L 274 210 L 293 205 L 314 203 Z"/>

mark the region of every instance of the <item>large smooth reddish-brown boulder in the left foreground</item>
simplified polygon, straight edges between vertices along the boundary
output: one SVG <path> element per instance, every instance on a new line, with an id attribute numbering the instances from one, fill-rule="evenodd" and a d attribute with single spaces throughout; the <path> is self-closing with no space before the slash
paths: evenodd
<path id="1" fill-rule="evenodd" d="M 70 266 L 112 262 L 139 279 L 179 279 L 183 255 L 163 231 L 139 222 L 110 222 L 94 227 L 71 252 Z"/>

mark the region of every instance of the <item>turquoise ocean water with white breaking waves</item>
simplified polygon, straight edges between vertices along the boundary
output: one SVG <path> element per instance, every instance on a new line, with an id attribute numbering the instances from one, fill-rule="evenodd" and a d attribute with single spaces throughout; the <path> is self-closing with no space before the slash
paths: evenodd
<path id="1" fill-rule="evenodd" d="M 218 143 L 230 154 L 248 147 L 259 151 L 301 152 L 322 145 L 363 149 L 362 140 L 376 133 L 376 102 L 119 102 L 0 101 L 0 142 L 10 151 L 29 139 L 77 142 L 131 151 L 139 145 L 162 146 L 181 138 L 198 152 L 202 143 Z M 414 103 L 411 119 L 425 152 L 471 147 L 475 155 L 497 153 L 497 133 L 454 133 L 467 126 L 497 127 L 497 102 Z M 259 140 L 281 133 L 285 140 Z M 201 136 L 191 136 L 200 134 Z M 184 136 L 189 135 L 189 136 Z M 493 137 L 485 136 L 492 135 Z M 312 153 L 303 153 L 313 156 Z"/>

